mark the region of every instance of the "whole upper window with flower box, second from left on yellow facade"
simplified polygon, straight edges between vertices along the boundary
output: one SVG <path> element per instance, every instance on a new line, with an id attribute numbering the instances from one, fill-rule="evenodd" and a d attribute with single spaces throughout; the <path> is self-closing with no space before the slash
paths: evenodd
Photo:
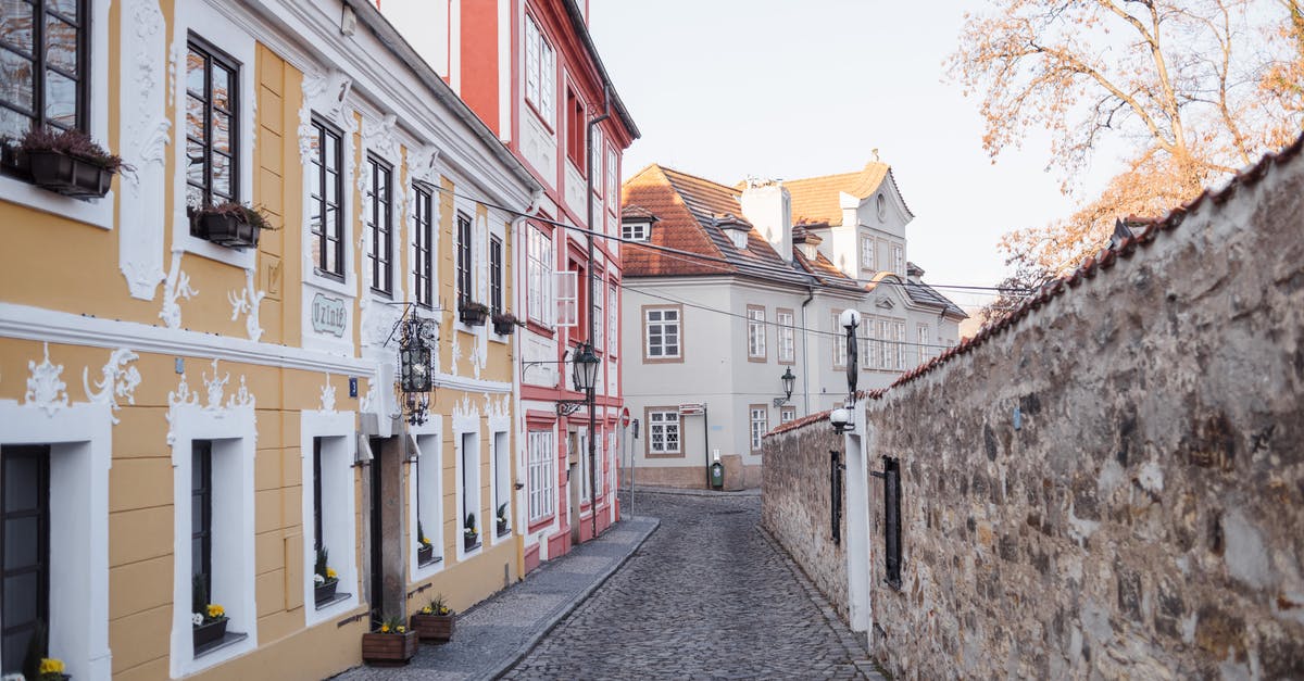
<path id="1" fill-rule="evenodd" d="M 192 35 L 185 57 L 185 204 L 194 209 L 239 201 L 240 64 Z"/>

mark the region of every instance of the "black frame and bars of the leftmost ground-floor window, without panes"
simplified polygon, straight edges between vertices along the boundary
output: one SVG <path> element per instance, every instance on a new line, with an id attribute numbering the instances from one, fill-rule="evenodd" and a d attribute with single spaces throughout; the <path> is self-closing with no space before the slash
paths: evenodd
<path id="1" fill-rule="evenodd" d="M 10 500 L 8 497 L 9 464 L 18 459 L 34 461 L 37 464 L 34 470 L 37 480 L 21 485 L 23 488 L 29 485 L 35 488 L 37 497 L 31 506 L 10 511 Z M 37 574 L 35 612 L 33 617 L 14 622 L 13 613 L 9 612 L 8 605 L 5 607 L 7 617 L 4 618 L 0 641 L 3 641 L 4 650 L 22 650 L 21 655 L 4 655 L 4 673 L 9 673 L 23 671 L 27 646 L 31 641 L 27 637 L 39 635 L 43 622 L 50 622 L 50 446 L 7 445 L 0 449 L 0 471 L 3 471 L 4 479 L 4 488 L 0 488 L 0 568 L 3 568 L 3 571 L 0 571 L 0 594 L 9 592 L 7 582 L 10 579 L 21 579 L 31 573 Z M 10 568 L 9 556 L 5 551 L 10 541 L 9 536 L 7 536 L 8 524 L 12 521 L 21 522 L 33 517 L 37 518 L 35 561 Z M 21 644 L 16 637 L 22 639 Z"/>

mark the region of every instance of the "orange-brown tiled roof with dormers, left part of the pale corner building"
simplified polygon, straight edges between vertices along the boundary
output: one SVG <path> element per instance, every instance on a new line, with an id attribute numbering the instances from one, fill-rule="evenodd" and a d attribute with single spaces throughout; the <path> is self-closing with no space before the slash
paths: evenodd
<path id="1" fill-rule="evenodd" d="M 719 223 L 728 215 L 750 227 L 746 219 L 735 218 L 742 215 L 738 198 L 738 190 L 732 187 L 656 163 L 635 174 L 625 181 L 621 201 L 627 211 L 649 213 L 659 219 L 649 243 L 726 262 L 704 262 L 639 244 L 622 244 L 625 277 L 742 274 L 806 286 L 814 275 L 819 284 L 857 288 L 854 279 L 823 256 L 810 261 L 794 249 L 793 261 L 785 261 L 755 228 L 747 232 L 747 248 L 737 248 Z"/>

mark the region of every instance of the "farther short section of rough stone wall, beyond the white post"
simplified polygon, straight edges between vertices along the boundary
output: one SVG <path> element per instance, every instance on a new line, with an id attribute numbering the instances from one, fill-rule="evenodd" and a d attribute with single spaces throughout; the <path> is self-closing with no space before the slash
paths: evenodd
<path id="1" fill-rule="evenodd" d="M 823 428 L 815 424 L 765 438 L 760 521 L 846 620 L 846 523 L 842 523 L 840 544 L 833 544 L 829 531 L 828 451 L 841 450 L 842 438 L 833 434 L 827 419 L 819 421 Z"/>

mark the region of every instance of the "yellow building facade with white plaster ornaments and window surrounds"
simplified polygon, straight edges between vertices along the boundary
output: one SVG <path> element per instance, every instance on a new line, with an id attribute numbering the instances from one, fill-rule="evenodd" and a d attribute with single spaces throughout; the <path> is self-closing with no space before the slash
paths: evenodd
<path id="1" fill-rule="evenodd" d="M 511 312 L 529 174 L 370 5 L 27 7 L 0 9 L 35 55 L 0 74 L 33 93 L 0 95 L 3 579 L 30 595 L 3 671 L 39 621 L 78 680 L 321 678 L 373 617 L 519 579 L 515 334 L 459 310 Z M 129 168 L 55 193 L 22 125 Z M 226 201 L 265 215 L 256 244 L 203 222 Z M 197 646 L 201 601 L 226 631 Z"/>

